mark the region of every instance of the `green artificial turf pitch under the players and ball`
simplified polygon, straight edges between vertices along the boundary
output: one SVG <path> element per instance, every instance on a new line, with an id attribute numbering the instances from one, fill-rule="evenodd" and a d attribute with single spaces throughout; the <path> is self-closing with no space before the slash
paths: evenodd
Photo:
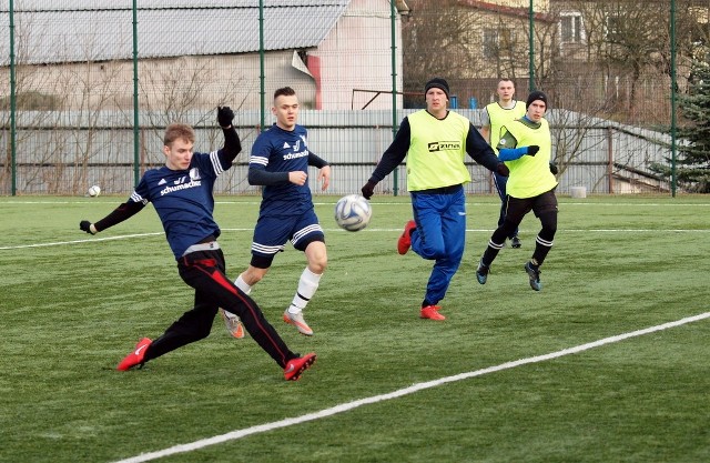
<path id="1" fill-rule="evenodd" d="M 407 197 L 375 197 L 356 233 L 336 228 L 337 198 L 316 197 L 329 265 L 305 312 L 315 335 L 281 320 L 302 253 L 287 245 L 252 292 L 294 351 L 317 352 L 298 382 L 219 318 L 206 340 L 114 370 L 192 302 L 152 207 L 79 231 L 124 200 L 0 199 L 1 462 L 113 462 L 179 444 L 158 461 L 710 461 L 710 319 L 526 361 L 710 312 L 710 197 L 560 198 L 540 292 L 523 270 L 532 214 L 523 248 L 476 282 L 499 202 L 469 197 L 444 322 L 418 318 L 432 262 L 396 252 Z M 257 208 L 217 198 L 231 278 L 248 263 Z M 283 425 L 203 445 L 271 423 Z"/>

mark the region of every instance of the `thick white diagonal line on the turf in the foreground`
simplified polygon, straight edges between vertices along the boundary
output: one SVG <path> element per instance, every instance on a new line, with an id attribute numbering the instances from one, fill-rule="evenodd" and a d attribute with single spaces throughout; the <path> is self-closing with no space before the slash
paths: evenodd
<path id="1" fill-rule="evenodd" d="M 357 409 L 358 406 L 362 406 L 362 405 L 367 405 L 367 404 L 371 404 L 371 403 L 377 403 L 377 402 L 382 402 L 382 401 L 397 399 L 397 397 L 400 397 L 403 395 L 413 394 L 415 392 L 423 391 L 423 390 L 430 389 L 430 387 L 436 387 L 436 386 L 439 386 L 442 384 L 453 383 L 453 382 L 456 382 L 456 381 L 468 380 L 469 378 L 483 376 L 484 374 L 496 373 L 496 372 L 499 372 L 499 371 L 503 371 L 503 370 L 514 369 L 514 368 L 520 366 L 520 365 L 527 365 L 529 363 L 538 363 L 538 362 L 544 362 L 544 361 L 547 361 L 547 360 L 552 360 L 552 359 L 557 359 L 557 358 L 565 356 L 565 355 L 576 354 L 576 353 L 579 353 L 579 352 L 587 351 L 589 349 L 595 349 L 595 348 L 599 348 L 601 345 L 606 345 L 606 344 L 611 344 L 611 343 L 615 343 L 615 342 L 623 341 L 623 340 L 627 340 L 629 338 L 641 336 L 643 334 L 649 334 L 649 333 L 653 333 L 653 332 L 657 332 L 657 331 L 667 330 L 669 328 L 680 326 L 680 325 L 683 325 L 683 324 L 697 322 L 697 321 L 704 320 L 704 319 L 708 319 L 708 318 L 710 318 L 710 312 L 701 313 L 701 314 L 694 315 L 694 316 L 688 316 L 688 318 L 684 318 L 684 319 L 681 319 L 681 320 L 677 320 L 674 322 L 668 322 L 668 323 L 659 324 L 659 325 L 656 325 L 656 326 L 647 328 L 647 329 L 643 329 L 643 330 L 638 330 L 638 331 L 632 331 L 632 332 L 629 332 L 629 333 L 618 334 L 616 336 L 605 338 L 605 339 L 601 339 L 599 341 L 589 342 L 587 344 L 577 345 L 575 348 L 562 349 L 561 351 L 552 352 L 552 353 L 545 354 L 545 355 L 536 355 L 536 356 L 530 356 L 530 358 L 527 358 L 527 359 L 515 360 L 513 362 L 501 363 L 500 365 L 489 366 L 489 368 L 483 369 L 483 370 L 476 370 L 476 371 L 471 371 L 471 372 L 468 372 L 468 373 L 460 373 L 460 374 L 456 374 L 454 376 L 446 376 L 446 378 L 442 378 L 442 379 L 438 379 L 438 380 L 428 381 L 426 383 L 413 384 L 409 387 L 400 389 L 400 390 L 397 390 L 397 391 L 394 391 L 394 392 L 390 392 L 390 393 L 387 393 L 387 394 L 374 395 L 372 397 L 365 397 L 365 399 L 361 399 L 361 400 L 357 400 L 357 401 L 353 401 L 353 402 L 347 402 L 347 403 L 343 403 L 343 404 L 339 404 L 339 405 L 335 405 L 335 406 L 333 406 L 331 409 L 321 410 L 320 412 L 307 413 L 305 415 L 301 415 L 301 416 L 296 416 L 296 417 L 287 417 L 287 419 L 284 419 L 284 420 L 274 421 L 272 423 L 265 423 L 265 424 L 260 424 L 260 425 L 252 426 L 252 427 L 246 427 L 246 429 L 243 429 L 243 430 L 232 431 L 232 432 L 229 432 L 226 434 L 215 435 L 214 437 L 202 439 L 200 441 L 195 441 L 195 442 L 192 442 L 190 444 L 174 445 L 172 447 L 168 447 L 168 449 L 164 449 L 164 450 L 161 450 L 161 451 L 158 451 L 158 452 L 143 453 L 141 455 L 133 456 L 133 457 L 130 457 L 130 459 L 126 459 L 126 460 L 120 460 L 120 461 L 118 461 L 115 463 L 148 462 L 148 461 L 151 461 L 151 460 L 161 459 L 163 456 L 174 455 L 176 453 L 192 452 L 192 451 L 200 450 L 200 449 L 203 449 L 203 447 L 206 447 L 206 446 L 210 446 L 210 445 L 215 445 L 215 444 L 220 444 L 220 443 L 223 443 L 223 442 L 242 439 L 242 437 L 245 437 L 247 435 L 260 434 L 260 433 L 263 433 L 263 432 L 277 430 L 280 427 L 293 426 L 294 424 L 301 424 L 301 423 L 305 423 L 307 421 L 320 420 L 320 419 L 323 419 L 323 417 L 333 416 L 333 415 L 338 414 L 338 413 L 343 413 L 343 412 L 347 412 L 347 411 L 353 410 L 353 409 Z"/>

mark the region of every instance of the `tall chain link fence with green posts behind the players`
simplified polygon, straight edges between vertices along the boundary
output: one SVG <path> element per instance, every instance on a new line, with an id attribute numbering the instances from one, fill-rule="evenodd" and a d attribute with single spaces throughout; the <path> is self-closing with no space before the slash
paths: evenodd
<path id="1" fill-rule="evenodd" d="M 435 76 L 477 127 L 499 78 L 523 100 L 546 91 L 562 193 L 669 192 L 648 167 L 671 158 L 671 89 L 684 91 L 708 22 L 707 1 L 671 4 L 677 50 L 668 1 L 10 0 L 0 194 L 130 193 L 163 164 L 168 123 L 194 125 L 197 151 L 217 149 L 224 104 L 244 152 L 217 191 L 256 194 L 247 155 L 284 85 L 310 148 L 333 165 L 329 193 L 352 193 Z M 493 192 L 486 171 L 471 172 L 468 192 Z M 402 194 L 405 177 L 379 193 Z"/>

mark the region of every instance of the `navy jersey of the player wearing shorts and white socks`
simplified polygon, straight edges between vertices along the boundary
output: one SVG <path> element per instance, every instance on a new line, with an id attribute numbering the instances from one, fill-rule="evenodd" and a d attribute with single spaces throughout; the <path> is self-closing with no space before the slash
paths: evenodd
<path id="1" fill-rule="evenodd" d="M 303 125 L 295 125 L 293 131 L 273 124 L 271 129 L 260 133 L 254 141 L 248 160 L 250 169 L 267 172 L 308 172 L 308 132 Z M 297 185 L 285 181 L 262 188 L 261 213 L 301 214 L 313 208 L 308 181 Z"/>

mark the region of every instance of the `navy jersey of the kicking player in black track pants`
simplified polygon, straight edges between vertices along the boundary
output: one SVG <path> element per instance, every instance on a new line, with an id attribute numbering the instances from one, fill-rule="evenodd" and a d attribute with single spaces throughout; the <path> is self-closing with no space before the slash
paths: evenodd
<path id="1" fill-rule="evenodd" d="M 153 203 L 168 243 L 180 259 L 187 248 L 203 239 L 220 235 L 212 217 L 216 178 L 232 167 L 221 151 L 194 153 L 190 168 L 170 170 L 165 165 L 145 171 L 129 202 Z"/>

